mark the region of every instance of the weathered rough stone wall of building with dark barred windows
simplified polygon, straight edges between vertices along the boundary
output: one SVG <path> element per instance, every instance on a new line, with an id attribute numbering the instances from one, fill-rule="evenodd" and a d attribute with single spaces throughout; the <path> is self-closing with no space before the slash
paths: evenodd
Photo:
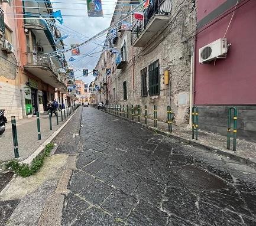
<path id="1" fill-rule="evenodd" d="M 120 47 L 124 40 L 127 41 L 128 63 L 111 76 L 110 103 L 147 104 L 150 116 L 153 116 L 153 106 L 157 105 L 158 119 L 164 121 L 167 106 L 171 103 L 174 122 L 178 125 L 189 123 L 190 65 L 196 28 L 196 14 L 191 3 L 189 0 L 172 1 L 171 16 L 166 27 L 160 28 L 145 47 L 132 47 L 131 31 L 119 35 L 116 47 Z M 114 22 L 117 19 L 114 18 Z M 141 97 L 140 71 L 155 60 L 160 63 L 160 95 Z M 163 84 L 164 70 L 170 70 L 170 86 Z M 127 100 L 123 98 L 124 81 L 127 81 Z"/>

